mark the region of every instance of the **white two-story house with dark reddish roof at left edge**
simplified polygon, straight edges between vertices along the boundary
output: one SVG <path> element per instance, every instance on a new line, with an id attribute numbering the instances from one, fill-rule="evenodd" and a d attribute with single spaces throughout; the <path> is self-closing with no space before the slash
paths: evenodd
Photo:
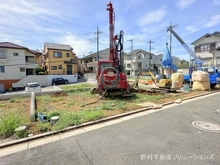
<path id="1" fill-rule="evenodd" d="M 0 91 L 27 75 L 34 75 L 40 52 L 10 42 L 0 42 Z"/>

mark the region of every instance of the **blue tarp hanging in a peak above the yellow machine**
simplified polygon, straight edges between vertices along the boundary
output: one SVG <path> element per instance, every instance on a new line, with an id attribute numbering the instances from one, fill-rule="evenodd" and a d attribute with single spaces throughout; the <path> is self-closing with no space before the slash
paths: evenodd
<path id="1" fill-rule="evenodd" d="M 162 68 L 171 68 L 172 70 L 177 71 L 176 65 L 173 64 L 173 60 L 172 60 L 172 58 L 171 58 L 168 45 L 166 45 L 166 52 L 165 52 L 165 54 L 163 55 L 162 65 L 161 65 L 161 66 L 162 66 Z"/>

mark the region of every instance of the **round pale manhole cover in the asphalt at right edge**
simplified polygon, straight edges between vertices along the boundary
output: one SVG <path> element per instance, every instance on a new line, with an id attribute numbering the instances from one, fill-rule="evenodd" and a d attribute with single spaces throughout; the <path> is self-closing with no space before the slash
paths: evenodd
<path id="1" fill-rule="evenodd" d="M 194 121 L 192 122 L 192 125 L 204 131 L 220 133 L 220 125 L 217 124 L 209 123 L 206 121 Z"/>

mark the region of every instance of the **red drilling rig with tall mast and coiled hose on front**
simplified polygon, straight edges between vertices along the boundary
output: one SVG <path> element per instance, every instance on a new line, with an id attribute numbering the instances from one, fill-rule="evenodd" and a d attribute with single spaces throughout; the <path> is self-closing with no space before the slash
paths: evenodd
<path id="1" fill-rule="evenodd" d="M 114 35 L 115 13 L 112 3 L 107 4 L 109 11 L 109 60 L 98 61 L 97 88 L 92 93 L 99 93 L 105 96 L 130 94 L 130 85 L 126 75 L 123 73 L 123 31 Z"/>

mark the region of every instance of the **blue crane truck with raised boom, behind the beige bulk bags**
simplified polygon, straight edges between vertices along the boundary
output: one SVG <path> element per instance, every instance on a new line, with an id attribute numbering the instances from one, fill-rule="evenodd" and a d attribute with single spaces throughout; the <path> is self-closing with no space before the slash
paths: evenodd
<path id="1" fill-rule="evenodd" d="M 220 83 L 220 72 L 215 66 L 202 67 L 203 61 L 188 47 L 188 45 L 178 36 L 178 34 L 169 27 L 167 31 L 170 31 L 176 39 L 182 44 L 182 46 L 186 49 L 186 51 L 190 54 L 191 57 L 195 60 L 195 65 L 193 67 L 189 67 L 189 74 L 184 75 L 184 81 L 191 82 L 192 72 L 195 70 L 202 70 L 209 73 L 209 81 L 211 87 L 215 87 L 216 84 Z"/>

